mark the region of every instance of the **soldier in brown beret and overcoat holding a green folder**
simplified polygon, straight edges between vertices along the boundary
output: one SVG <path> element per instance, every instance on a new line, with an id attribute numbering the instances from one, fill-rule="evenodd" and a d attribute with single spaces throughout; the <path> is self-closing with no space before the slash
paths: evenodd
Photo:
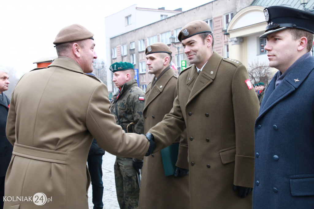
<path id="1" fill-rule="evenodd" d="M 162 121 L 169 113 L 177 96 L 176 82 L 178 75 L 170 67 L 172 51 L 164 43 L 154 43 L 146 48 L 146 59 L 149 73 L 154 74 L 145 93 L 144 130 L 145 133 Z M 162 101 L 162 103 L 161 103 Z M 185 139 L 185 140 L 184 140 Z M 184 141 L 183 141 L 184 140 Z M 176 168 L 173 175 L 166 176 L 161 152 L 144 157 L 142 185 L 139 195 L 139 208 L 189 208 L 189 177 L 187 162 L 186 132 L 173 142 L 176 147 Z M 170 147 L 168 147 L 170 148 Z M 153 194 L 153 195 L 152 195 Z"/>

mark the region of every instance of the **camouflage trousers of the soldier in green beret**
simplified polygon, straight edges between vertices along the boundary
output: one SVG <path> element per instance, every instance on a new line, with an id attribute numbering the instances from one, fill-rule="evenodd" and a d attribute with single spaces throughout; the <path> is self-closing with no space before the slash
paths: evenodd
<path id="1" fill-rule="evenodd" d="M 114 164 L 116 193 L 121 209 L 137 209 L 139 187 L 132 158 L 116 157 Z"/>

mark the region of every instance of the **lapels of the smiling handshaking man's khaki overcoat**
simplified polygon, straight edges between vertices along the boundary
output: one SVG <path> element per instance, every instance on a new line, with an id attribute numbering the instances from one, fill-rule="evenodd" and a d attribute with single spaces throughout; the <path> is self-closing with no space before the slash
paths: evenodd
<path id="1" fill-rule="evenodd" d="M 187 80 L 188 88 L 191 88 L 191 93 L 187 103 L 189 103 L 194 97 L 202 92 L 204 88 L 213 82 L 221 60 L 222 57 L 214 52 L 199 75 L 197 73 L 196 66 L 192 66 Z M 191 81 L 189 81 L 189 79 Z"/>

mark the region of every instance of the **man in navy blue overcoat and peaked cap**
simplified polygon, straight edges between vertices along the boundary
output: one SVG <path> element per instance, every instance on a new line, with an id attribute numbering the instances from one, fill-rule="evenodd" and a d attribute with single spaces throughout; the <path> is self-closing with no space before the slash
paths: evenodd
<path id="1" fill-rule="evenodd" d="M 314 14 L 264 9 L 264 49 L 278 69 L 255 122 L 253 208 L 314 208 Z"/>

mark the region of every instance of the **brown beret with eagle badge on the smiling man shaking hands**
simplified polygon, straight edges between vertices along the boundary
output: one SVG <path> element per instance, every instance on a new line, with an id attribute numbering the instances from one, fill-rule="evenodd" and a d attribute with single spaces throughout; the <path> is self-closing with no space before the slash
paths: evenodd
<path id="1" fill-rule="evenodd" d="M 178 40 L 181 41 L 190 38 L 193 35 L 206 32 L 212 32 L 212 29 L 209 27 L 209 25 L 203 20 L 195 20 L 182 28 L 178 35 Z"/>

